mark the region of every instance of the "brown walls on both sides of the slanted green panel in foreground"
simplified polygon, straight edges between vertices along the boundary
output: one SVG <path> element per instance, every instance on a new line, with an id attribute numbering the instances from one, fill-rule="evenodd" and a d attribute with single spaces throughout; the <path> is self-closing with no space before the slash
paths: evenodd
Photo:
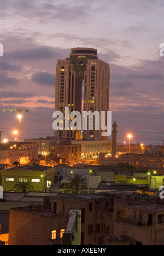
<path id="1" fill-rule="evenodd" d="M 61 229 L 67 228 L 69 210 L 81 210 L 81 245 L 102 243 L 103 237 L 113 234 L 113 212 L 109 211 L 110 198 L 65 200 L 50 198 L 52 212 L 11 209 L 9 245 L 62 245 Z M 55 206 L 56 203 L 56 206 Z M 21 221 L 20 221 L 21 220 Z M 106 225 L 106 226 L 104 226 Z M 57 231 L 51 241 L 51 231 Z"/>

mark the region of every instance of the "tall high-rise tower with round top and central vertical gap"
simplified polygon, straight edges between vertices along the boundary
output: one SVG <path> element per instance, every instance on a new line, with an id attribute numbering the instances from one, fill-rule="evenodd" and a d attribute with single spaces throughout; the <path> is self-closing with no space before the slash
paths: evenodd
<path id="1" fill-rule="evenodd" d="M 61 123 L 65 123 L 68 118 L 65 113 L 66 107 L 69 107 L 70 113 L 98 111 L 100 114 L 101 111 L 109 111 L 110 68 L 108 63 L 98 59 L 97 49 L 72 48 L 69 58 L 58 60 L 55 86 L 55 111 L 64 114 Z M 81 121 L 81 131 L 57 130 L 55 137 L 72 140 L 107 139 L 102 137 L 101 129 L 95 128 L 95 119 L 93 115 L 92 130 L 83 130 Z"/>

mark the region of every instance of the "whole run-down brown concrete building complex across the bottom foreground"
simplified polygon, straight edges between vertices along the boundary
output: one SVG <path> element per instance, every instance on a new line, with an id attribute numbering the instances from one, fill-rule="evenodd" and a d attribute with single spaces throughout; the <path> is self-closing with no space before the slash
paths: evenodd
<path id="1" fill-rule="evenodd" d="M 81 245 L 164 244 L 164 206 L 157 195 L 120 190 L 51 196 L 49 203 L 10 210 L 9 245 L 63 245 L 69 210 L 81 210 Z"/>

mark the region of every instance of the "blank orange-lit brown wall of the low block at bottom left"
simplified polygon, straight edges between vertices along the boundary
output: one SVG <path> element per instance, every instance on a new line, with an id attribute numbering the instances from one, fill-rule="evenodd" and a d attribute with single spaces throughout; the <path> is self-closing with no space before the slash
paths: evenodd
<path id="1" fill-rule="evenodd" d="M 59 222 L 60 216 L 55 214 L 10 210 L 9 245 L 52 245 L 51 230 L 57 229 Z"/>

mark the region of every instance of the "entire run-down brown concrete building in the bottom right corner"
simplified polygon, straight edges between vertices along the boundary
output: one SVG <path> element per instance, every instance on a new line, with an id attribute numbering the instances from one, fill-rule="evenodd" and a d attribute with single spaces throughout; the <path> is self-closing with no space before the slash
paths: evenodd
<path id="1" fill-rule="evenodd" d="M 164 206 L 145 199 L 127 196 L 114 202 L 114 234 L 105 245 L 164 245 Z"/>

